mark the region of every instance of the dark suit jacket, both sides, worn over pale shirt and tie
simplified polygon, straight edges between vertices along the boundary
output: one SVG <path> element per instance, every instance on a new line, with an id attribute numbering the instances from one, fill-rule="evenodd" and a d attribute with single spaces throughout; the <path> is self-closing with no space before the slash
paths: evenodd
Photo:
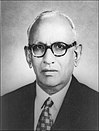
<path id="1" fill-rule="evenodd" d="M 2 97 L 2 129 L 34 129 L 36 82 Z M 52 130 L 98 130 L 98 93 L 73 76 Z"/>

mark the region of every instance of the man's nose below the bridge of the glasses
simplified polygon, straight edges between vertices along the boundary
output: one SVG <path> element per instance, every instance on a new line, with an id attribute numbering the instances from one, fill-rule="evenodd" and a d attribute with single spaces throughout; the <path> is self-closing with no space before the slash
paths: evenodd
<path id="1" fill-rule="evenodd" d="M 48 65 L 55 63 L 55 56 L 52 53 L 51 49 L 47 49 L 47 51 L 43 57 L 43 63 L 48 64 Z"/>

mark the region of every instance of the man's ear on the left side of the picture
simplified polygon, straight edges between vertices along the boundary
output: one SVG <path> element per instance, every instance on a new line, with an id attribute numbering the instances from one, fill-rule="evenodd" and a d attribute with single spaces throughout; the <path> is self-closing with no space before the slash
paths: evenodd
<path id="1" fill-rule="evenodd" d="M 25 51 L 26 61 L 29 65 L 29 67 L 32 68 L 32 57 L 31 57 L 31 51 L 30 51 L 29 47 L 25 46 L 24 51 Z"/>

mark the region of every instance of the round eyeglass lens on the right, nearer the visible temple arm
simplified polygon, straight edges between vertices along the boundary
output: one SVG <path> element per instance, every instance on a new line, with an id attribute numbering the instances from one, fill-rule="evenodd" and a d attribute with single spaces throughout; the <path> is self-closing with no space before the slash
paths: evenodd
<path id="1" fill-rule="evenodd" d="M 55 55 L 63 55 L 66 52 L 66 45 L 61 42 L 54 43 L 52 49 Z"/>

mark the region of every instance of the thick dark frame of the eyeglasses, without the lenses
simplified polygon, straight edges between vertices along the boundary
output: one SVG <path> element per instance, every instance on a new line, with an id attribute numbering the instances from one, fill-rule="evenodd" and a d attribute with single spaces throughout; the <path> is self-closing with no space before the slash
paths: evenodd
<path id="1" fill-rule="evenodd" d="M 65 45 L 65 49 L 66 49 L 66 50 L 65 50 L 65 52 L 64 52 L 62 55 L 56 55 L 56 54 L 54 53 L 54 51 L 53 51 L 53 49 L 52 49 L 52 46 L 53 46 L 55 43 L 63 43 L 63 44 Z M 32 44 L 32 45 L 29 44 L 28 47 L 29 47 L 29 49 L 31 50 L 31 53 L 33 52 L 33 49 L 32 49 L 32 48 L 33 48 L 33 46 L 35 46 L 35 45 L 36 45 L 36 44 Z M 41 56 L 36 56 L 34 53 L 32 53 L 34 57 L 37 57 L 37 58 L 43 57 L 43 56 L 46 54 L 47 49 L 51 49 L 52 53 L 53 53 L 54 56 L 56 56 L 56 57 L 64 56 L 69 48 L 77 45 L 77 42 L 74 41 L 72 44 L 69 44 L 69 45 L 66 44 L 66 43 L 64 43 L 64 42 L 54 42 L 54 43 L 51 44 L 50 46 L 48 46 L 48 45 L 46 45 L 46 44 L 43 44 L 43 45 L 45 46 L 45 52 L 44 52 L 44 54 L 41 55 Z"/>

